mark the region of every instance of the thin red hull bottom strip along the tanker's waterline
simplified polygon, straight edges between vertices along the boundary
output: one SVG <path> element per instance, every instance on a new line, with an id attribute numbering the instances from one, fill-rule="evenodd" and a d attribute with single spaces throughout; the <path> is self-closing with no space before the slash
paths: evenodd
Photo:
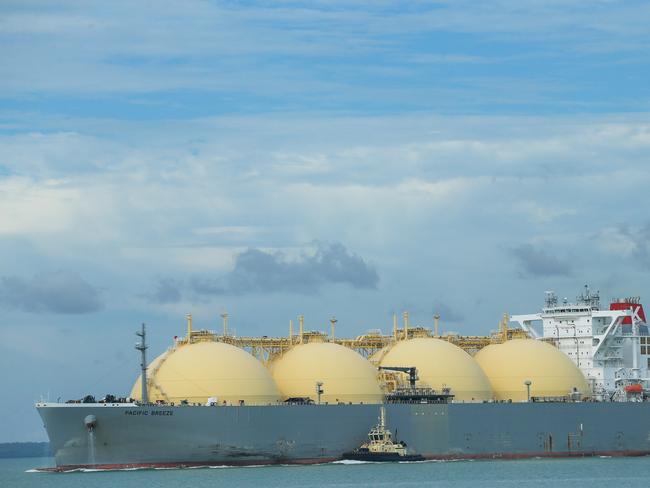
<path id="1" fill-rule="evenodd" d="M 424 455 L 426 461 L 455 461 L 469 459 L 530 459 L 530 458 L 571 458 L 571 457 L 640 457 L 650 456 L 650 450 L 644 451 L 594 451 L 594 452 L 539 452 L 539 453 L 492 453 L 492 454 L 443 454 Z M 291 459 L 272 461 L 231 461 L 231 462 L 174 462 L 174 463 L 125 463 L 125 464 L 80 464 L 71 466 L 57 466 L 55 468 L 38 468 L 36 471 L 45 473 L 69 473 L 81 470 L 97 471 L 122 471 L 136 469 L 183 469 L 183 468 L 210 468 L 220 466 L 272 466 L 272 465 L 308 465 L 325 464 L 340 461 L 341 458 L 314 458 Z"/>

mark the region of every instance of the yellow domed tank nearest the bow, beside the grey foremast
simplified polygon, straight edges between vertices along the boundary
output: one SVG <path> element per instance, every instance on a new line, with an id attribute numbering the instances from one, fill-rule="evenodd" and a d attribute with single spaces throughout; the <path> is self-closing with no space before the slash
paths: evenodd
<path id="1" fill-rule="evenodd" d="M 149 401 L 268 404 L 280 392 L 268 370 L 243 349 L 222 342 L 179 345 L 161 354 L 148 367 Z M 140 378 L 131 396 L 141 398 Z"/>

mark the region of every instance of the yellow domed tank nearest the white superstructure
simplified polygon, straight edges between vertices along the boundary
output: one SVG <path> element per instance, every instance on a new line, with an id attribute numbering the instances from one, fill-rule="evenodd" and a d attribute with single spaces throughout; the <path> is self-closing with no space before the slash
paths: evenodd
<path id="1" fill-rule="evenodd" d="M 559 349 L 534 339 L 513 339 L 481 349 L 476 362 L 490 380 L 497 400 L 525 401 L 530 395 L 566 396 L 576 388 L 588 396 L 590 389 L 578 367 Z"/>

